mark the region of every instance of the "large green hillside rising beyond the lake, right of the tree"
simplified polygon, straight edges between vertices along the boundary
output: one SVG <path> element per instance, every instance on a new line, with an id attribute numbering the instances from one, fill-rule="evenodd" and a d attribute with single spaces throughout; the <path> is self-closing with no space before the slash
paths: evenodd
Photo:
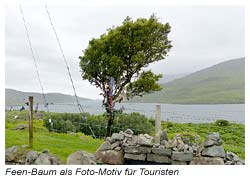
<path id="1" fill-rule="evenodd" d="M 245 102 L 245 58 L 225 61 L 162 84 L 159 92 L 132 102 L 232 104 Z"/>

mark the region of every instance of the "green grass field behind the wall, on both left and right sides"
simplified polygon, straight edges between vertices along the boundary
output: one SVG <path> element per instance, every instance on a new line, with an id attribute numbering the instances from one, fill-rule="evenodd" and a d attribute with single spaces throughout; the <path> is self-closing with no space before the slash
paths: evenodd
<path id="1" fill-rule="evenodd" d="M 18 119 L 14 116 L 18 115 Z M 27 112 L 11 111 L 6 112 L 5 121 L 5 146 L 28 144 L 28 129 L 15 130 L 18 124 L 28 124 Z M 226 151 L 232 151 L 241 158 L 245 158 L 245 126 L 243 124 L 230 123 L 220 126 L 216 123 L 192 124 L 192 123 L 173 123 L 162 122 L 162 129 L 167 130 L 168 137 L 171 139 L 176 134 L 181 134 L 183 138 L 191 141 L 200 136 L 203 142 L 209 132 L 219 132 L 223 139 L 223 146 Z M 153 134 L 151 134 L 153 135 Z M 67 157 L 77 150 L 94 153 L 102 144 L 102 139 L 93 139 L 82 133 L 55 133 L 49 132 L 43 126 L 42 120 L 34 120 L 34 145 L 33 150 L 42 151 L 49 149 L 49 152 L 58 157 L 62 163 L 66 163 Z"/>

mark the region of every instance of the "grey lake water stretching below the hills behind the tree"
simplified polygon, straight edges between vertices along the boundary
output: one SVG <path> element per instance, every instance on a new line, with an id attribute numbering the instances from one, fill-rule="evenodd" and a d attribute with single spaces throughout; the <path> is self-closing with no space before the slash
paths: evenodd
<path id="1" fill-rule="evenodd" d="M 90 114 L 102 114 L 101 101 L 84 101 L 81 103 L 84 111 Z M 245 123 L 245 104 L 204 104 L 204 105 L 179 105 L 179 104 L 160 104 L 161 119 L 181 123 L 203 123 L 214 122 L 217 119 L 225 119 L 230 122 Z M 147 117 L 155 117 L 156 103 L 122 103 L 117 104 L 116 108 L 124 107 L 124 112 L 139 112 Z M 20 106 L 14 106 L 20 109 Z M 27 107 L 26 107 L 27 109 Z M 39 110 L 45 110 L 39 106 Z M 49 105 L 51 112 L 79 112 L 74 104 L 53 104 Z"/>

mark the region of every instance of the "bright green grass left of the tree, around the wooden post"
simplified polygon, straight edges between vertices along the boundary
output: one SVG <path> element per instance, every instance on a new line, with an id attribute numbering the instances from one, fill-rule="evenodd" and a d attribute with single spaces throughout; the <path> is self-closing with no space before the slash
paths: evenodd
<path id="1" fill-rule="evenodd" d="M 13 120 L 11 114 L 18 114 L 19 120 Z M 28 130 L 14 130 L 18 124 L 27 124 L 28 121 L 21 119 L 25 117 L 27 112 L 10 112 L 7 113 L 5 123 L 5 146 L 6 148 L 13 145 L 29 144 Z M 23 115 L 23 116 L 22 116 Z M 48 132 L 43 126 L 43 121 L 34 120 L 34 144 L 32 150 L 42 151 L 49 149 L 49 152 L 60 159 L 62 163 L 66 163 L 67 157 L 77 150 L 83 150 L 94 153 L 96 149 L 103 143 L 101 139 L 93 139 L 82 133 L 75 135 L 65 133 Z"/>

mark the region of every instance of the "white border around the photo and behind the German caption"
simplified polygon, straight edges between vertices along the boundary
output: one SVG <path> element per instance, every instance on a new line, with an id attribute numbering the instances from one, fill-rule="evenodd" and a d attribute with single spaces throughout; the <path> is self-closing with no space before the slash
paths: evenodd
<path id="1" fill-rule="evenodd" d="M 163 0 L 125 0 L 125 1 L 118 1 L 118 0 L 92 0 L 92 1 L 87 1 L 87 0 L 82 0 L 82 1 L 77 1 L 77 0 L 70 0 L 70 1 L 62 1 L 62 0 L 54 0 L 52 1 L 48 1 L 48 0 L 44 0 L 44 1 L 32 1 L 32 0 L 23 0 L 23 1 L 6 1 L 5 4 L 10 5 L 12 3 L 15 4 L 20 4 L 22 2 L 22 4 L 29 4 L 29 5 L 39 5 L 39 4 L 49 4 L 49 5 L 84 5 L 84 6 L 92 6 L 92 5 L 98 5 L 98 6 L 110 6 L 110 5 L 131 5 L 131 6 L 135 6 L 135 5 L 245 5 L 246 10 L 245 10 L 245 41 L 246 41 L 246 45 L 245 45 L 245 62 L 246 62 L 246 75 L 245 75 L 245 82 L 246 82 L 246 103 L 245 103 L 245 113 L 246 113 L 246 150 L 245 152 L 248 153 L 249 152 L 249 109 L 250 109 L 250 104 L 249 104 L 249 98 L 250 98 L 250 87 L 249 87 L 249 82 L 247 80 L 248 77 L 250 77 L 250 73 L 248 72 L 249 70 L 249 50 L 250 46 L 249 46 L 249 33 L 250 32 L 250 28 L 249 28 L 249 18 L 250 17 L 250 2 L 249 1 L 244 1 L 244 0 L 173 0 L 173 1 L 163 1 Z M 1 27 L 1 34 L 0 34 L 0 62 L 1 62 L 1 66 L 0 66 L 0 78 L 1 78 L 1 91 L 0 91 L 0 95 L 1 95 L 1 100 L 0 100 L 0 119 L 1 119 L 1 123 L 0 124 L 0 176 L 4 175 L 6 166 L 4 165 L 4 146 L 5 146 L 5 142 L 4 142 L 4 88 L 5 88 L 5 72 L 4 72 L 4 67 L 5 67 L 5 32 L 4 32 L 4 22 L 5 18 L 4 18 L 4 4 L 1 4 L 0 6 L 0 27 Z M 2 31 L 3 30 L 3 31 Z M 8 166 L 8 167 L 12 167 L 12 166 Z M 37 166 L 39 168 L 45 168 L 45 169 L 65 169 L 67 167 L 73 169 L 76 166 L 65 166 L 65 165 L 61 165 L 61 166 Z M 98 169 L 100 166 L 79 166 L 79 167 L 84 167 L 84 168 L 93 168 L 93 169 Z M 121 169 L 125 169 L 127 166 L 101 166 L 101 167 L 110 167 L 110 168 L 121 168 Z M 131 168 L 140 168 L 142 166 L 128 166 Z M 166 168 L 166 166 L 147 166 L 150 168 Z M 16 168 L 16 166 L 13 166 L 13 168 Z M 20 169 L 30 169 L 32 168 L 32 166 L 20 166 Z M 180 175 L 177 177 L 171 177 L 171 176 L 144 176 L 144 177 L 138 177 L 138 178 L 145 178 L 145 179 L 152 179 L 152 178 L 157 178 L 157 179 L 166 179 L 166 178 L 173 178 L 173 179 L 245 179 L 245 177 L 248 177 L 248 173 L 247 170 L 250 169 L 249 168 L 249 154 L 246 154 L 246 165 L 245 166 L 167 166 L 167 168 L 171 168 L 171 169 L 179 169 L 180 170 Z M 60 176 L 60 179 L 68 179 L 71 176 Z M 6 178 L 6 177 L 5 177 Z M 13 178 L 13 177 L 8 177 L 8 178 Z M 19 176 L 19 177 L 14 177 L 14 178 L 22 178 L 22 179 L 34 179 L 34 178 L 51 178 L 54 179 L 55 177 L 44 177 L 44 176 Z M 94 178 L 91 176 L 85 177 L 85 176 L 72 176 L 72 178 L 76 178 L 76 179 L 83 179 L 83 178 Z M 131 177 L 125 177 L 125 176 L 97 176 L 96 178 L 102 178 L 102 179 L 117 179 L 117 178 L 131 178 Z M 136 176 L 132 177 L 132 178 L 137 178 Z"/>

